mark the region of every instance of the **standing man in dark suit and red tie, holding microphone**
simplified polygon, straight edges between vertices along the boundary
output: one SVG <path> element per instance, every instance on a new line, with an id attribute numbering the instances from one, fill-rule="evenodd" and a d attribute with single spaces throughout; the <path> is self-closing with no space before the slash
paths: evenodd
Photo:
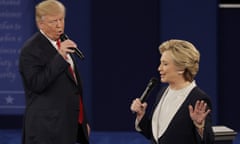
<path id="1" fill-rule="evenodd" d="M 23 144 L 89 143 L 90 127 L 82 105 L 82 85 L 72 40 L 56 44 L 64 32 L 65 7 L 56 0 L 36 6 L 39 32 L 21 49 L 26 109 Z M 71 71 L 72 72 L 71 72 Z"/>

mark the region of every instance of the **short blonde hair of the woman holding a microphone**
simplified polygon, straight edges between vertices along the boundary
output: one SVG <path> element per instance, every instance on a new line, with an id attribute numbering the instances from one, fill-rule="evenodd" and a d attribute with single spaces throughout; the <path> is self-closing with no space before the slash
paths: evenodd
<path id="1" fill-rule="evenodd" d="M 172 39 L 163 42 L 159 46 L 162 54 L 170 51 L 175 65 L 180 71 L 184 71 L 183 76 L 187 81 L 193 81 L 199 70 L 200 53 L 195 46 L 185 40 Z"/>

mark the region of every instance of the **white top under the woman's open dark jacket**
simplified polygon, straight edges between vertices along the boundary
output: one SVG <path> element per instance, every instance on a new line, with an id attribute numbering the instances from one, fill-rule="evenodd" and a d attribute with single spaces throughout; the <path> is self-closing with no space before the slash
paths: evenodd
<path id="1" fill-rule="evenodd" d="M 193 81 L 180 90 L 172 90 L 169 87 L 165 90 L 152 117 L 152 132 L 156 141 L 163 135 L 173 116 L 195 86 L 196 83 Z"/>

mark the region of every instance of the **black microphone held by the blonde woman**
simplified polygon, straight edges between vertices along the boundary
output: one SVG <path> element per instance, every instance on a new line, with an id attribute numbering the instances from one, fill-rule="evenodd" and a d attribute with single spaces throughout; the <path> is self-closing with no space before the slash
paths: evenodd
<path id="1" fill-rule="evenodd" d="M 156 86 L 158 80 L 155 77 L 152 77 L 149 82 L 148 85 L 146 87 L 146 89 L 144 90 L 142 96 L 140 97 L 141 102 L 145 102 L 149 96 L 149 93 L 153 90 L 153 88 Z"/>

